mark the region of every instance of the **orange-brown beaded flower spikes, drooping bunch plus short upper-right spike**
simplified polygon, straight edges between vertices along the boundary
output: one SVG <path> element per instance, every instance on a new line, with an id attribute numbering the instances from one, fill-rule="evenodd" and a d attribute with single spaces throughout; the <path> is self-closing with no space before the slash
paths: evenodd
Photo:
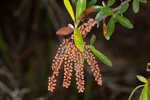
<path id="1" fill-rule="evenodd" d="M 88 21 L 91 24 L 83 24 L 84 29 L 86 28 L 91 30 L 91 28 L 95 25 L 93 20 Z M 83 30 L 83 28 L 79 28 L 80 32 L 89 32 Z M 78 50 L 73 42 L 73 39 L 64 38 L 62 43 L 59 45 L 56 56 L 52 61 L 52 76 L 48 77 L 48 91 L 53 92 L 56 87 L 56 77 L 59 75 L 59 70 L 61 69 L 61 65 L 64 62 L 64 78 L 62 86 L 68 88 L 71 84 L 71 78 L 73 70 L 75 71 L 75 79 L 78 92 L 84 92 L 84 59 L 87 61 L 87 64 L 90 66 L 91 72 L 98 85 L 102 85 L 102 77 L 100 74 L 100 69 L 98 62 L 96 61 L 95 55 L 90 51 L 86 43 L 84 44 L 85 50 L 81 52 Z"/>

